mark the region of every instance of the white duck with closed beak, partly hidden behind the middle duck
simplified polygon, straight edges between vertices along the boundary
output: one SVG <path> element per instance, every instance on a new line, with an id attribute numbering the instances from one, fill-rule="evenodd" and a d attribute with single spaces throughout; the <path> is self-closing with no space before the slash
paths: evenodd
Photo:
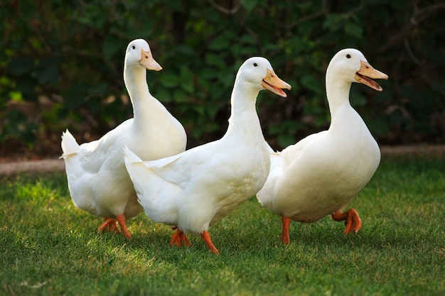
<path id="1" fill-rule="evenodd" d="M 146 82 L 146 69 L 162 67 L 151 55 L 143 39 L 127 47 L 124 82 L 132 101 L 134 118 L 106 133 L 102 138 L 78 145 L 71 133 L 62 135 L 68 187 L 76 207 L 102 216 L 100 230 L 118 231 L 116 220 L 126 239 L 131 235 L 125 224 L 141 212 L 136 192 L 122 158 L 128 146 L 144 160 L 175 155 L 186 150 L 186 131 L 166 108 L 154 98 Z"/>

